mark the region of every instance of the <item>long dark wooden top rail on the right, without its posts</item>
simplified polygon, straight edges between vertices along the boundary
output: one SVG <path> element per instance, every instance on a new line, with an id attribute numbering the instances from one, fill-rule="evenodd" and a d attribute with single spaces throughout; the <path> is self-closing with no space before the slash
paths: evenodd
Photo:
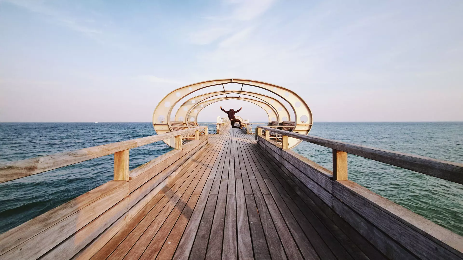
<path id="1" fill-rule="evenodd" d="M 430 157 L 411 155 L 386 149 L 379 149 L 348 142 L 326 139 L 317 136 L 307 136 L 299 133 L 278 130 L 264 126 L 257 126 L 263 130 L 272 131 L 283 136 L 290 136 L 302 141 L 315 143 L 327 148 L 343 151 L 352 155 L 361 156 L 374 161 L 380 161 L 418 173 L 424 173 L 433 177 L 451 182 L 463 184 L 463 164 L 432 159 Z"/>

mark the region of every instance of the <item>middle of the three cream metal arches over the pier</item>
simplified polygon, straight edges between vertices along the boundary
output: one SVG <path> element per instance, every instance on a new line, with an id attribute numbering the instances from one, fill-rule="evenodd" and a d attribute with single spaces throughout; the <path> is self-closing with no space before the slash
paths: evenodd
<path id="1" fill-rule="evenodd" d="M 191 111 L 194 110 L 195 107 L 197 107 L 201 101 L 213 98 L 215 96 L 231 94 L 231 93 L 241 94 L 241 95 L 246 95 L 246 96 L 255 97 L 257 99 L 261 99 L 263 100 L 263 102 L 266 102 L 267 105 L 271 106 L 272 109 L 277 113 L 278 116 L 275 117 L 276 118 L 275 121 L 279 121 L 280 123 L 282 121 L 291 121 L 290 119 L 291 117 L 289 115 L 288 109 L 286 109 L 286 107 L 278 99 L 274 99 L 272 97 L 263 95 L 261 93 L 255 93 L 255 92 L 249 92 L 249 91 L 243 92 L 243 91 L 238 91 L 238 90 L 210 92 L 210 93 L 205 93 L 205 94 L 193 97 L 191 99 L 188 99 L 177 110 L 175 114 L 175 121 L 187 122 L 188 121 L 187 118 L 191 118 L 190 116 Z M 269 101 L 265 99 L 268 99 Z M 278 105 L 278 109 L 274 105 L 272 105 L 273 103 L 276 103 Z M 285 117 L 287 119 L 283 120 L 283 118 Z M 197 121 L 197 120 L 194 119 L 194 120 L 189 120 L 189 121 Z"/>

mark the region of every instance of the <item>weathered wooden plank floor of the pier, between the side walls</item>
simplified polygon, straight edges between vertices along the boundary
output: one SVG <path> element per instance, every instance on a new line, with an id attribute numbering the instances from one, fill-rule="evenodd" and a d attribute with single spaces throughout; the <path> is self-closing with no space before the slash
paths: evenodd
<path id="1" fill-rule="evenodd" d="M 209 143 L 92 259 L 386 259 L 242 130 Z"/>

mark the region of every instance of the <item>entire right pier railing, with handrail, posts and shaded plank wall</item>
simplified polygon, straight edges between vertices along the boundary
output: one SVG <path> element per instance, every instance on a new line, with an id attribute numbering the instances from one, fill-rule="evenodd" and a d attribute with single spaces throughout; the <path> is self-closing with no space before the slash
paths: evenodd
<path id="1" fill-rule="evenodd" d="M 263 133 L 263 131 L 265 131 Z M 275 142 L 271 133 L 281 135 Z M 463 259 L 463 237 L 348 180 L 347 154 L 380 161 L 463 184 L 463 164 L 316 136 L 257 127 L 257 144 L 271 156 L 283 175 L 292 180 L 312 203 L 345 234 L 360 233 L 388 259 Z M 288 139 L 312 142 L 332 149 L 333 171 L 288 149 Z M 285 178 L 285 177 L 283 177 Z M 355 229 L 356 232 L 353 232 Z"/>

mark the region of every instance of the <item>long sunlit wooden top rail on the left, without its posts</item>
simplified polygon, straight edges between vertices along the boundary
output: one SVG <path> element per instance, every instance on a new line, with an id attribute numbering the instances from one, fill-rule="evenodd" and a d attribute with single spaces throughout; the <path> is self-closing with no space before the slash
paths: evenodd
<path id="1" fill-rule="evenodd" d="M 113 142 L 74 151 L 57 153 L 53 155 L 44 155 L 30 159 L 0 163 L 0 183 L 16 180 L 37 173 L 43 173 L 78 162 L 88 161 L 101 156 L 111 155 L 127 149 L 150 144 L 152 142 L 158 142 L 167 138 L 190 134 L 197 130 L 206 128 L 207 126 L 196 126 L 194 128 L 174 131 L 161 135 L 146 136 L 122 142 Z"/>

